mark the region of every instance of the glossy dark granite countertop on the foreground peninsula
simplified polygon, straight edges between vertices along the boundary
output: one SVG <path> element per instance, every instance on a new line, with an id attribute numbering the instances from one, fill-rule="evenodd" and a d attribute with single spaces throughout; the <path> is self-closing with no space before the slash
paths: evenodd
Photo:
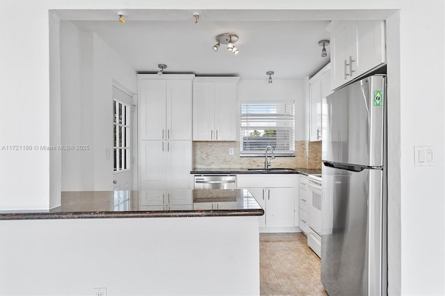
<path id="1" fill-rule="evenodd" d="M 248 190 L 181 190 L 181 202 L 149 205 L 138 191 L 62 192 L 62 206 L 47 211 L 0 211 L 0 220 L 261 216 L 264 210 Z M 185 197 L 185 198 L 184 198 Z M 145 194 L 144 200 L 147 200 Z"/>

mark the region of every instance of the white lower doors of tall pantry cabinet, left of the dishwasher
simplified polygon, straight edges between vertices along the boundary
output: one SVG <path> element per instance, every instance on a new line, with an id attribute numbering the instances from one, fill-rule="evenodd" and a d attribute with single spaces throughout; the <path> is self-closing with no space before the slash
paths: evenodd
<path id="1" fill-rule="evenodd" d="M 142 140 L 139 206 L 192 204 L 192 144 L 188 140 Z"/>

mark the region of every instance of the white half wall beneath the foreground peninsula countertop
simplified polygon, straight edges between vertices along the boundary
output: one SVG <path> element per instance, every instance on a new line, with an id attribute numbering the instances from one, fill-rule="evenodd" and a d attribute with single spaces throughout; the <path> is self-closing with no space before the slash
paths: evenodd
<path id="1" fill-rule="evenodd" d="M 0 221 L 0 295 L 259 295 L 258 217 Z"/>

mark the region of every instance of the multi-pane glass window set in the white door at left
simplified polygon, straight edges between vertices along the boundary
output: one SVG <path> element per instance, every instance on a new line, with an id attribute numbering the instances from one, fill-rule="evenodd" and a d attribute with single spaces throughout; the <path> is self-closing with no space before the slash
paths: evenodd
<path id="1" fill-rule="evenodd" d="M 130 168 L 130 106 L 113 99 L 114 171 Z"/>

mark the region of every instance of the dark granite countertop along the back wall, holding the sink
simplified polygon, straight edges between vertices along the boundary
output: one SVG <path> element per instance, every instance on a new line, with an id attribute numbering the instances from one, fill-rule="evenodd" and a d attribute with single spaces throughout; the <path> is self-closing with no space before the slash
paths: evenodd
<path id="1" fill-rule="evenodd" d="M 264 170 L 256 168 L 194 168 L 191 174 L 321 174 L 321 169 L 305 169 L 301 167 L 272 167 Z"/>

